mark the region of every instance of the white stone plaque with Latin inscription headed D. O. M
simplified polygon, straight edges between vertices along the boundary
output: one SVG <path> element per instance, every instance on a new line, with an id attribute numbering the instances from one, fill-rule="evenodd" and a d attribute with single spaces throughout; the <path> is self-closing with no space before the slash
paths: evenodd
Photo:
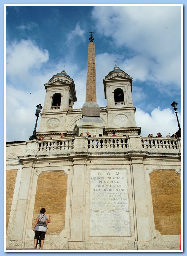
<path id="1" fill-rule="evenodd" d="M 130 236 L 127 170 L 90 170 L 90 236 Z"/>

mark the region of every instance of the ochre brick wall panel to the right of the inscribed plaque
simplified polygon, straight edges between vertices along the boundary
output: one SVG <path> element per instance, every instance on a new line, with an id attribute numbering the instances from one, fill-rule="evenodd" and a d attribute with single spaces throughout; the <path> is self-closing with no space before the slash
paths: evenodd
<path id="1" fill-rule="evenodd" d="M 174 170 L 153 170 L 150 174 L 155 229 L 161 235 L 181 232 L 181 180 Z"/>

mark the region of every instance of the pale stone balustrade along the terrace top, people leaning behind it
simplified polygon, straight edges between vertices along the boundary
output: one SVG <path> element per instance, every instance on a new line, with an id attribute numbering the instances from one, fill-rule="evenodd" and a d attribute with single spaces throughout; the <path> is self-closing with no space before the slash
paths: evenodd
<path id="1" fill-rule="evenodd" d="M 39 152 L 56 151 L 56 150 L 80 150 L 82 148 L 88 151 L 101 150 L 107 152 L 108 150 L 118 151 L 151 151 L 155 153 L 163 153 L 171 151 L 181 153 L 181 141 L 175 138 L 156 138 L 156 137 L 141 137 L 136 135 L 129 135 L 127 137 L 66 137 L 64 139 L 44 139 L 38 140 Z M 76 144 L 76 147 L 75 147 Z M 65 151 L 64 151 L 65 152 Z"/>

